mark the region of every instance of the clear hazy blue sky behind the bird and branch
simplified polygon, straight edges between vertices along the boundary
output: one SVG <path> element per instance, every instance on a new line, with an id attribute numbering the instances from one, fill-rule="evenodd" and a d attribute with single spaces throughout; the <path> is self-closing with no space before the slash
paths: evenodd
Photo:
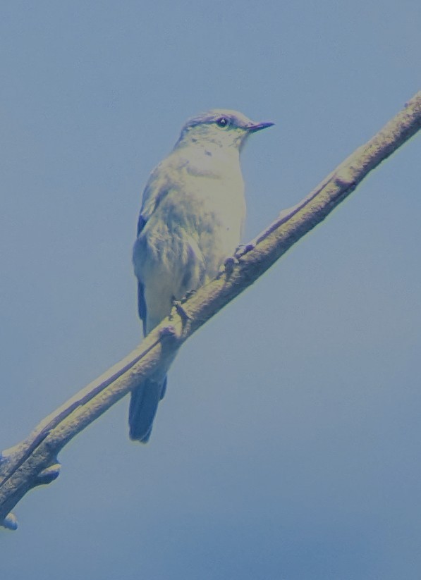
<path id="1" fill-rule="evenodd" d="M 418 0 L 0 6 L 0 447 L 138 344 L 142 187 L 186 118 L 243 154 L 245 240 L 420 89 Z M 421 140 L 123 400 L 0 533 L 8 580 L 419 579 Z"/>

